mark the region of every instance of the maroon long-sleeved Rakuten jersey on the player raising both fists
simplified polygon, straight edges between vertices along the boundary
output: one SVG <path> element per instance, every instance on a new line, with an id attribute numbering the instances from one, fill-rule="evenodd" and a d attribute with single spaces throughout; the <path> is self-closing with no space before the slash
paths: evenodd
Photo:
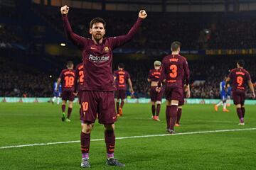
<path id="1" fill-rule="evenodd" d="M 82 51 L 84 63 L 84 83 L 82 90 L 87 91 L 114 91 L 114 78 L 112 74 L 112 52 L 114 48 L 124 45 L 132 40 L 139 31 L 142 18 L 138 18 L 134 26 L 126 35 L 104 38 L 101 44 L 89 38 L 83 38 L 73 33 L 68 16 L 63 15 L 63 25 L 68 38 Z"/>

